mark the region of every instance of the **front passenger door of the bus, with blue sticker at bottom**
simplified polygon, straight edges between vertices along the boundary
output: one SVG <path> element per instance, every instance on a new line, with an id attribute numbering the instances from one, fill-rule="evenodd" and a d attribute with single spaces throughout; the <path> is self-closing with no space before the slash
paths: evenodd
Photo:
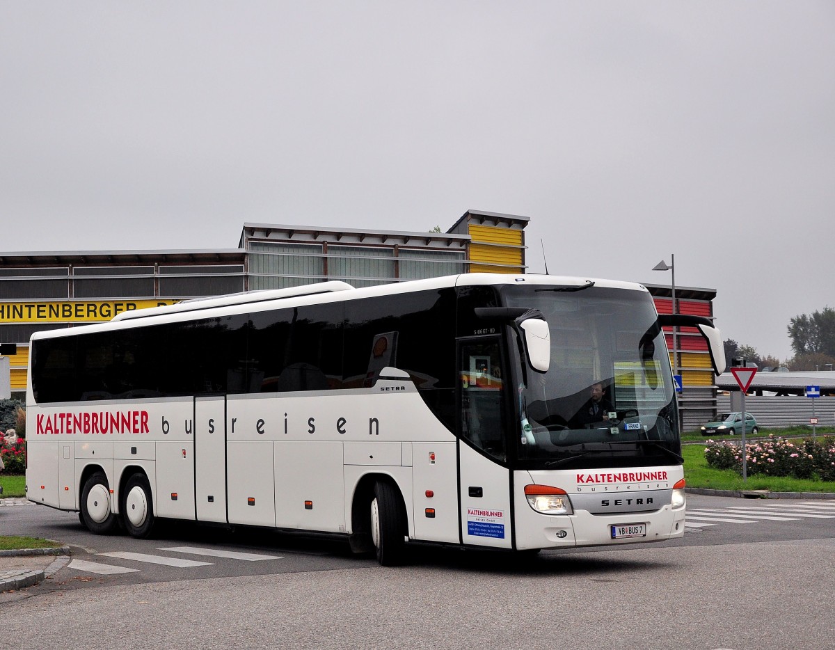
<path id="1" fill-rule="evenodd" d="M 507 383 L 498 337 L 469 338 L 458 347 L 458 463 L 461 540 L 510 548 Z"/>

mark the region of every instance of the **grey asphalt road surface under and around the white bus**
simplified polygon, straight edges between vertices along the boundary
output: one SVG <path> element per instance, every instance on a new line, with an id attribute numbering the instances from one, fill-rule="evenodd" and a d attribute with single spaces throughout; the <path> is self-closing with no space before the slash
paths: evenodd
<path id="1" fill-rule="evenodd" d="M 688 511 L 678 542 L 526 559 L 420 549 L 388 569 L 332 541 L 194 526 L 98 537 L 77 515 L 21 506 L 3 511 L 4 534 L 57 538 L 73 561 L 134 571 L 67 566 L 0 596 L 0 647 L 835 647 L 835 503 L 689 495 Z M 272 559 L 160 550 L 184 546 Z"/>

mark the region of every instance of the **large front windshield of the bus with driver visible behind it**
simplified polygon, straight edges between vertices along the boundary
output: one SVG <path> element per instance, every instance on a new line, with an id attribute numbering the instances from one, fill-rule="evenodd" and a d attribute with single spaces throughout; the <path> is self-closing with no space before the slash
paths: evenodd
<path id="1" fill-rule="evenodd" d="M 514 428 L 523 465 L 681 463 L 670 360 L 649 293 L 589 283 L 505 287 L 502 295 L 508 307 L 538 309 L 550 328 L 546 373 L 511 346 L 524 368 Z"/>

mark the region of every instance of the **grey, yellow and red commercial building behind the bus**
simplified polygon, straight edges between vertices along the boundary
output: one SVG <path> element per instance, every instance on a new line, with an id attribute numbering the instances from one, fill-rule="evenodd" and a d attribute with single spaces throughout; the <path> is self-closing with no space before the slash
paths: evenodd
<path id="1" fill-rule="evenodd" d="M 11 386 L 26 388 L 28 340 L 43 329 L 101 322 L 181 300 L 339 280 L 354 287 L 463 272 L 525 273 L 529 217 L 468 210 L 446 232 L 362 230 L 268 223 L 243 225 L 237 248 L 0 253 L 0 343 L 17 344 Z M 570 269 L 562 269 L 570 275 Z M 645 285 L 661 313 L 671 287 Z M 676 311 L 713 317 L 713 289 L 676 287 Z M 666 332 L 673 348 L 672 332 Z M 704 339 L 676 335 L 685 427 L 716 411 Z"/>

